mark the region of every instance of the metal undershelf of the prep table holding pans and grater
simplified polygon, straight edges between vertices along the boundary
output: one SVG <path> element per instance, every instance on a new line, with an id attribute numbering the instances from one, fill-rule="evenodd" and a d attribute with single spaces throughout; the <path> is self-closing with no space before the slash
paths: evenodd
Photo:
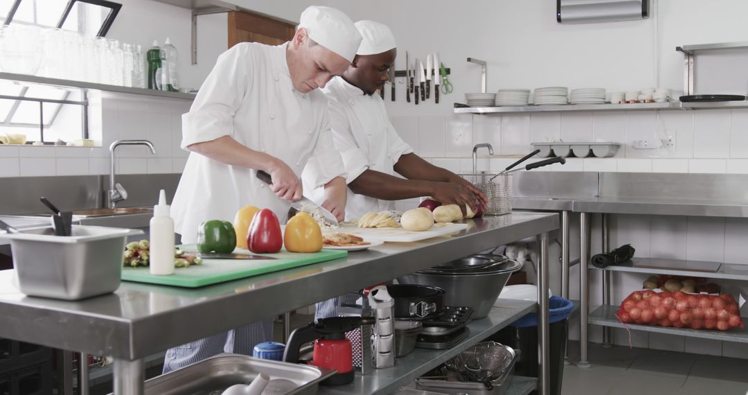
<path id="1" fill-rule="evenodd" d="M 320 395 L 343 394 L 390 394 L 396 389 L 407 385 L 429 370 L 443 364 L 444 361 L 458 355 L 465 349 L 479 343 L 491 334 L 500 331 L 515 319 L 527 313 L 536 311 L 537 304 L 533 301 L 503 299 L 502 307 L 493 307 L 485 319 L 470 322 L 470 336 L 464 342 L 451 349 L 432 350 L 415 349 L 411 355 L 398 358 L 394 367 L 374 370 L 366 376 L 356 375 L 355 381 L 349 385 L 319 388 Z M 532 352 L 532 351 L 530 351 Z M 532 379 L 537 381 L 537 379 Z M 518 385 L 523 381 L 519 380 Z M 512 382 L 512 387 L 514 387 Z M 518 392 L 521 394 L 522 392 Z"/>

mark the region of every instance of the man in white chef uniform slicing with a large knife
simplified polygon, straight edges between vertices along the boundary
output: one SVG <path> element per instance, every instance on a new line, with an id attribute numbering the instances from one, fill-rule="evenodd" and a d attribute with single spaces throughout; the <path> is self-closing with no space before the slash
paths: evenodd
<path id="1" fill-rule="evenodd" d="M 181 147 L 191 153 L 171 206 L 183 243 L 196 241 L 203 221 L 231 221 L 242 206 L 272 209 L 283 221 L 289 200 L 301 197 L 304 168 L 313 174 L 310 186 L 325 190 L 322 205 L 343 219 L 345 171 L 317 88 L 346 70 L 359 43 L 340 10 L 308 7 L 290 42 L 239 43 L 218 57 L 183 115 Z M 257 179 L 258 170 L 272 186 Z M 267 340 L 272 319 L 169 349 L 164 373 L 221 352 L 249 355 Z"/>

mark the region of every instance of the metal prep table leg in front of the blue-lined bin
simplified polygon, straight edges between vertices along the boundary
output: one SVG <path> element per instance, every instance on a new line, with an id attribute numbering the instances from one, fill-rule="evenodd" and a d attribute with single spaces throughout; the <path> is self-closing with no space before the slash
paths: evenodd
<path id="1" fill-rule="evenodd" d="M 548 327 L 548 232 L 538 236 L 540 262 L 538 267 L 538 361 L 539 361 L 539 394 L 551 394 L 551 331 Z"/>

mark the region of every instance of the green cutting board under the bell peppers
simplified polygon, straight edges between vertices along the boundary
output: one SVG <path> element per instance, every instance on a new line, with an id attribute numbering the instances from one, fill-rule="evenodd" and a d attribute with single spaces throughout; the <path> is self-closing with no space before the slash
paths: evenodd
<path id="1" fill-rule="evenodd" d="M 185 251 L 197 251 L 195 245 L 182 245 Z M 236 254 L 252 254 L 250 251 L 237 248 Z M 322 250 L 310 254 L 288 252 L 285 249 L 278 254 L 259 254 L 276 258 L 275 260 L 216 260 L 206 259 L 200 265 L 186 268 L 174 269 L 173 275 L 152 275 L 147 267 L 124 267 L 122 268 L 123 281 L 135 281 L 138 283 L 150 283 L 160 285 L 172 285 L 175 287 L 203 287 L 210 284 L 223 283 L 224 281 L 237 280 L 239 278 L 264 275 L 266 273 L 278 272 L 298 266 L 310 265 L 312 263 L 325 262 L 343 258 L 348 255 L 347 251 Z"/>

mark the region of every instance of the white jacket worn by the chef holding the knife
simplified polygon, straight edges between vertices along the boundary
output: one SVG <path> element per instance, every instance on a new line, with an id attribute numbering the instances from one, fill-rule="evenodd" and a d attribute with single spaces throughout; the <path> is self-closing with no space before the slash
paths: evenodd
<path id="1" fill-rule="evenodd" d="M 302 94 L 293 88 L 286 44 L 239 43 L 221 54 L 182 123 L 183 149 L 229 135 L 286 162 L 297 176 L 309 168 L 310 187 L 345 177 L 327 100 L 322 92 Z M 171 206 L 183 243 L 196 241 L 203 221 L 232 221 L 247 205 L 272 209 L 281 221 L 289 209 L 254 170 L 190 153 Z"/>

